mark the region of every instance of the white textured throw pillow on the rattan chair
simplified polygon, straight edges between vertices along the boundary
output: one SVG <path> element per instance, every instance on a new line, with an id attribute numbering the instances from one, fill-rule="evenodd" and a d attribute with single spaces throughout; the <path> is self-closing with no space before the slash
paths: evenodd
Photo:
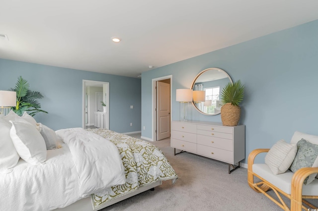
<path id="1" fill-rule="evenodd" d="M 287 171 L 297 154 L 297 145 L 288 144 L 284 140 L 278 141 L 265 156 L 265 163 L 273 174 Z"/>

